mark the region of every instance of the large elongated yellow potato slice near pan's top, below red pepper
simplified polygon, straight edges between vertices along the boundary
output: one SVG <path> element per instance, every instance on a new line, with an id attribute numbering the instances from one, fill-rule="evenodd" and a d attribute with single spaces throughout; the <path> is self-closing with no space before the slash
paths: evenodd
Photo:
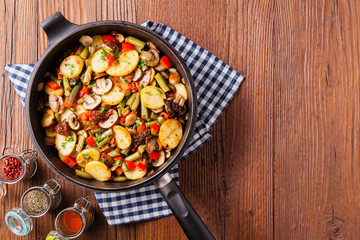
<path id="1" fill-rule="evenodd" d="M 125 51 L 120 54 L 119 64 L 110 67 L 106 72 L 111 76 L 126 76 L 138 65 L 139 54 L 136 50 Z"/>

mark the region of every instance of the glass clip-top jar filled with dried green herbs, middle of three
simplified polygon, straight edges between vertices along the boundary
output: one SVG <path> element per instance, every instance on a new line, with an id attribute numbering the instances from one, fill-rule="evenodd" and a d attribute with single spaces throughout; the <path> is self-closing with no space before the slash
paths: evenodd
<path id="1" fill-rule="evenodd" d="M 48 211 L 57 208 L 61 202 L 61 186 L 58 181 L 50 179 L 41 186 L 29 188 L 21 197 L 21 208 L 31 217 L 41 217 Z"/>

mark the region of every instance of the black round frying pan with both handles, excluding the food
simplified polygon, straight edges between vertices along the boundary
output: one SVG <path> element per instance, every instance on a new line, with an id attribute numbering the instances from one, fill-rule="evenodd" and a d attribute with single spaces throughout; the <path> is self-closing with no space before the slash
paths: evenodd
<path id="1" fill-rule="evenodd" d="M 168 171 L 180 160 L 186 150 L 193 133 L 197 116 L 196 89 L 189 69 L 180 54 L 160 35 L 145 27 L 123 21 L 101 21 L 85 25 L 75 25 L 56 12 L 41 23 L 48 37 L 48 47 L 32 72 L 26 93 L 26 123 L 33 143 L 48 167 L 67 181 L 94 191 L 120 192 L 137 189 L 155 183 L 157 189 L 169 205 L 189 239 L 214 239 L 199 215 L 192 208 L 177 184 L 171 179 Z M 80 36 L 108 34 L 117 30 L 125 35 L 131 35 L 143 40 L 152 41 L 160 51 L 168 56 L 181 76 L 185 79 L 188 91 L 189 120 L 186 123 L 183 138 L 173 155 L 153 174 L 136 181 L 99 182 L 86 180 L 75 175 L 74 171 L 59 161 L 57 151 L 44 144 L 45 131 L 41 127 L 41 113 L 37 111 L 37 85 L 43 80 L 44 74 L 55 65 L 59 56 L 78 41 Z"/>

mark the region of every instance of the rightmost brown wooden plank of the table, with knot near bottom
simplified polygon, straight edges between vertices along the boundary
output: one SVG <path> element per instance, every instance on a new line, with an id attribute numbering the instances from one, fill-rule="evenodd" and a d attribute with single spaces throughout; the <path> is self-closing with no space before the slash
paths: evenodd
<path id="1" fill-rule="evenodd" d="M 359 10 L 276 2 L 275 238 L 359 236 Z"/>

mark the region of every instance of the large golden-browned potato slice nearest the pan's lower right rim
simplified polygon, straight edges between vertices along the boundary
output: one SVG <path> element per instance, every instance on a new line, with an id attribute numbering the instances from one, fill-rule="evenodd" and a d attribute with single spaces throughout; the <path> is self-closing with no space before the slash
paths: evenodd
<path id="1" fill-rule="evenodd" d="M 182 125 L 178 120 L 166 120 L 160 127 L 159 140 L 167 149 L 174 149 L 182 138 Z"/>

